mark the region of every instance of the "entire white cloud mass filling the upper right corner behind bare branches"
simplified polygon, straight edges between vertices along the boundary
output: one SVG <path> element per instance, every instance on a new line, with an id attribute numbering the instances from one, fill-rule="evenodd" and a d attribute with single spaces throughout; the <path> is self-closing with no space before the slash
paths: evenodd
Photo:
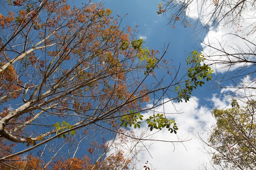
<path id="1" fill-rule="evenodd" d="M 183 2 L 184 0 L 178 1 Z M 186 15 L 198 19 L 202 25 L 210 28 L 201 44 L 202 53 L 208 56 L 208 64 L 212 64 L 213 61 L 218 62 L 213 66 L 216 73 L 234 71 L 245 64 L 238 63 L 230 67 L 229 64 L 225 63 L 229 60 L 238 61 L 238 58 L 243 59 L 244 57 L 249 60 L 256 60 L 255 55 L 243 55 L 244 53 L 254 54 L 256 50 L 256 7 L 252 7 L 251 1 L 245 1 L 238 5 L 238 7 L 243 5 L 242 11 L 239 11 L 239 8 L 233 9 L 239 0 L 218 0 L 216 1 L 218 2 L 217 5 L 212 0 L 187 0 L 187 2 L 189 5 L 186 9 Z M 233 13 L 225 15 L 228 11 Z M 219 24 L 215 25 L 216 23 Z M 227 53 L 235 55 L 227 56 Z M 236 55 L 238 53 L 241 55 Z"/>

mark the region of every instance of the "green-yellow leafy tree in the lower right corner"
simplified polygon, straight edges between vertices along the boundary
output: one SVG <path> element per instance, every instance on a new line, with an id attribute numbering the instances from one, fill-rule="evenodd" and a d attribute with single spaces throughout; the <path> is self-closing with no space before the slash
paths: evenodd
<path id="1" fill-rule="evenodd" d="M 209 132 L 208 142 L 204 141 L 213 165 L 220 169 L 255 170 L 256 168 L 256 121 L 254 100 L 247 106 L 239 106 L 233 99 L 231 108 L 213 109 L 216 126 Z M 202 139 L 202 138 L 201 138 Z"/>

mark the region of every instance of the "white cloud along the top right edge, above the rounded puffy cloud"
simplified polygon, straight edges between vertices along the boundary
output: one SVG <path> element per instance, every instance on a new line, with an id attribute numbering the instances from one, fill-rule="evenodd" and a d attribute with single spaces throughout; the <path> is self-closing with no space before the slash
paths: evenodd
<path id="1" fill-rule="evenodd" d="M 204 26 L 212 26 L 216 22 L 220 22 L 220 26 L 227 24 L 232 26 L 238 24 L 235 20 L 238 17 L 242 19 L 243 24 L 249 23 L 249 26 L 256 24 L 254 20 L 256 7 L 252 6 L 254 3 L 251 1 L 240 3 L 240 0 L 177 0 L 177 3 L 187 4 L 186 15 L 199 19 Z M 243 9 L 240 11 L 242 6 Z M 226 13 L 228 15 L 225 15 Z M 235 22 L 232 22 L 233 20 Z"/>

